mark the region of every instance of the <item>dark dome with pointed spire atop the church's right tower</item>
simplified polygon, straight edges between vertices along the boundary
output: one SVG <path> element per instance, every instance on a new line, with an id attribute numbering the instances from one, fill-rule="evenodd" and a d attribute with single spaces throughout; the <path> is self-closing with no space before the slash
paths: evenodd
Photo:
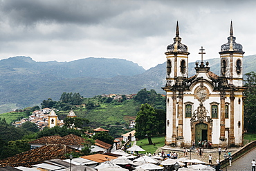
<path id="1" fill-rule="evenodd" d="M 243 52 L 243 46 L 241 46 L 239 43 L 236 43 L 235 37 L 233 37 L 232 21 L 230 24 L 230 37 L 228 37 L 228 43 L 225 43 L 221 46 L 221 52 L 228 51 Z"/>

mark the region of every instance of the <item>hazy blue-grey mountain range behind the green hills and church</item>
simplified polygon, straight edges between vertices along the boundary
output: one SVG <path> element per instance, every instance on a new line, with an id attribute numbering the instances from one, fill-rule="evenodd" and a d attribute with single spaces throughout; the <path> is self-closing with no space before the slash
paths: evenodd
<path id="1" fill-rule="evenodd" d="M 219 75 L 219 58 L 209 59 L 211 71 Z M 244 57 L 244 74 L 256 71 L 256 55 Z M 166 64 L 144 70 L 125 59 L 86 58 L 71 62 L 37 62 L 30 57 L 0 61 L 0 113 L 39 105 L 44 99 L 59 100 L 62 92 L 83 97 L 104 93 L 131 94 L 143 88 L 165 93 Z M 190 76 L 194 62 L 189 63 Z"/>

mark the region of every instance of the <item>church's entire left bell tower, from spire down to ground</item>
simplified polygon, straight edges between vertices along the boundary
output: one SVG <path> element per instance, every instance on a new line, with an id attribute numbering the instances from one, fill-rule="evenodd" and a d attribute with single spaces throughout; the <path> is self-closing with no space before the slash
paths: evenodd
<path id="1" fill-rule="evenodd" d="M 165 144 L 183 143 L 183 83 L 188 79 L 188 47 L 181 43 L 179 23 L 176 23 L 174 43 L 167 46 L 166 85 L 166 140 Z M 178 104 L 178 105 L 177 105 Z M 178 127 L 176 125 L 178 123 Z"/>

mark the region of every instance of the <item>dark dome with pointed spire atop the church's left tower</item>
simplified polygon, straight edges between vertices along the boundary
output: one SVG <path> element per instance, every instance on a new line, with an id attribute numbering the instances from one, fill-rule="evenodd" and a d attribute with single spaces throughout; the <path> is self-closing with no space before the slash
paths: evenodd
<path id="1" fill-rule="evenodd" d="M 167 46 L 167 52 L 188 52 L 188 46 L 181 43 L 181 37 L 179 37 L 179 24 L 176 25 L 176 37 L 174 37 L 174 43 Z"/>

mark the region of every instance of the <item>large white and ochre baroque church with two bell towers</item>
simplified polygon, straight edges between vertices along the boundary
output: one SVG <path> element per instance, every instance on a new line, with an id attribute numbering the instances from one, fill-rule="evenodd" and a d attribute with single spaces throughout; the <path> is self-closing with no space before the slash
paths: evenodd
<path id="1" fill-rule="evenodd" d="M 190 147 L 199 141 L 213 147 L 243 145 L 244 96 L 241 44 L 233 36 L 221 46 L 221 75 L 210 71 L 210 63 L 196 62 L 196 74 L 188 77 L 188 46 L 181 43 L 179 24 L 174 43 L 167 46 L 166 59 L 166 145 Z"/>

